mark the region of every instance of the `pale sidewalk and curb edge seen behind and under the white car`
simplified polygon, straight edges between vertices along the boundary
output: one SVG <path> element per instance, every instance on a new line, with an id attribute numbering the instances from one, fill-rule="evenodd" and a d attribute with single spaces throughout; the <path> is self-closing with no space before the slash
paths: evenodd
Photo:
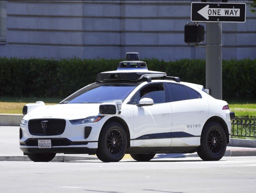
<path id="1" fill-rule="evenodd" d="M 182 158 L 198 156 L 193 154 L 156 154 L 157 158 Z M 256 148 L 242 148 L 227 146 L 224 156 L 256 156 Z M 132 159 L 129 154 L 125 154 L 123 159 Z M 76 161 L 76 160 L 98 160 L 95 155 L 87 154 L 56 154 L 52 161 Z M 0 161 L 31 161 L 19 149 L 19 127 L 0 126 Z"/>

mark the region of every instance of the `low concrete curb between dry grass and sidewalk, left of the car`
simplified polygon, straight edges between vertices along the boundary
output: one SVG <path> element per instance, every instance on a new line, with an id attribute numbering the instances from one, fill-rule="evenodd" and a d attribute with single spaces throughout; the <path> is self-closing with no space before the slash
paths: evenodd
<path id="1" fill-rule="evenodd" d="M 24 115 L 0 114 L 0 126 L 19 126 Z"/>

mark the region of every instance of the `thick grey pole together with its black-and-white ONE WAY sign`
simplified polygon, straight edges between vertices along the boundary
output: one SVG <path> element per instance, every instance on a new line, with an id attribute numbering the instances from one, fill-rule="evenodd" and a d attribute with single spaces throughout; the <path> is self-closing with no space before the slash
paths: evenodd
<path id="1" fill-rule="evenodd" d="M 191 21 L 206 22 L 206 88 L 214 98 L 222 99 L 222 23 L 245 20 L 245 3 L 220 0 L 191 3 Z M 200 46 L 198 43 L 196 47 Z"/>

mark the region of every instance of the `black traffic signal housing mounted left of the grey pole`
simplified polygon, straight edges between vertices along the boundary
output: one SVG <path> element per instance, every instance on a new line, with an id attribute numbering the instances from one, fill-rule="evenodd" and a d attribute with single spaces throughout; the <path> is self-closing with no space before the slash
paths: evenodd
<path id="1" fill-rule="evenodd" d="M 198 44 L 205 40 L 205 27 L 203 25 L 186 24 L 184 26 L 184 42 L 186 44 Z"/>

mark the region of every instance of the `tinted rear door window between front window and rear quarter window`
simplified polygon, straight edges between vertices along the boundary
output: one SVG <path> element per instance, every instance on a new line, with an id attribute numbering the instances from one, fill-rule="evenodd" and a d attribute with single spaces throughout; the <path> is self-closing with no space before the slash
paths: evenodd
<path id="1" fill-rule="evenodd" d="M 186 88 L 182 85 L 167 84 L 172 95 L 172 101 L 188 100 Z"/>

